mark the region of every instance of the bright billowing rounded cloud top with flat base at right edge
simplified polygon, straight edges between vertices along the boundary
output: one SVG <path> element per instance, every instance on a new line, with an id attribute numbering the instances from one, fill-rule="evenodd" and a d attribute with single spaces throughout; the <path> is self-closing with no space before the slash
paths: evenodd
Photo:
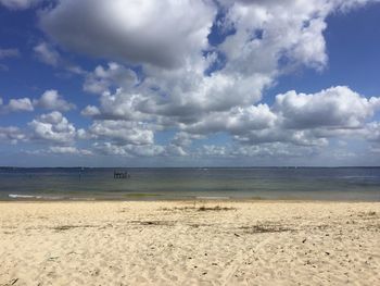
<path id="1" fill-rule="evenodd" d="M 288 91 L 276 97 L 275 109 L 290 128 L 358 128 L 380 108 L 380 98 L 366 99 L 345 86 L 317 94 Z"/>

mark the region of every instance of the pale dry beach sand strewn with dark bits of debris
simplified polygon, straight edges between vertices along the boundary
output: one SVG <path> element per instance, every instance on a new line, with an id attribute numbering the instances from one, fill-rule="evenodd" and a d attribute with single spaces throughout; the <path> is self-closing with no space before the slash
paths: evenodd
<path id="1" fill-rule="evenodd" d="M 0 227 L 0 285 L 380 285 L 377 202 L 1 202 Z"/>

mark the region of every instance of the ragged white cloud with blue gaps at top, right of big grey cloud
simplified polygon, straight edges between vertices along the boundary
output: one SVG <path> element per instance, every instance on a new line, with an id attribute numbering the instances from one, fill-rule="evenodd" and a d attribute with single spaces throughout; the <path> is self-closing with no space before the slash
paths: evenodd
<path id="1" fill-rule="evenodd" d="M 277 73 L 283 59 L 318 69 L 327 63 L 322 32 L 331 9 L 328 1 L 225 2 L 224 25 L 236 30 L 220 45 L 228 58 L 226 70 Z"/>

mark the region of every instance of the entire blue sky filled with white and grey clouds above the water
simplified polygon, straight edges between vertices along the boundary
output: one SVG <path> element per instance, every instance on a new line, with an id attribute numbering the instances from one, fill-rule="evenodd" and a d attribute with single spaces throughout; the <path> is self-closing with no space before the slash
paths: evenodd
<path id="1" fill-rule="evenodd" d="M 0 165 L 380 165 L 379 2 L 0 0 Z"/>

